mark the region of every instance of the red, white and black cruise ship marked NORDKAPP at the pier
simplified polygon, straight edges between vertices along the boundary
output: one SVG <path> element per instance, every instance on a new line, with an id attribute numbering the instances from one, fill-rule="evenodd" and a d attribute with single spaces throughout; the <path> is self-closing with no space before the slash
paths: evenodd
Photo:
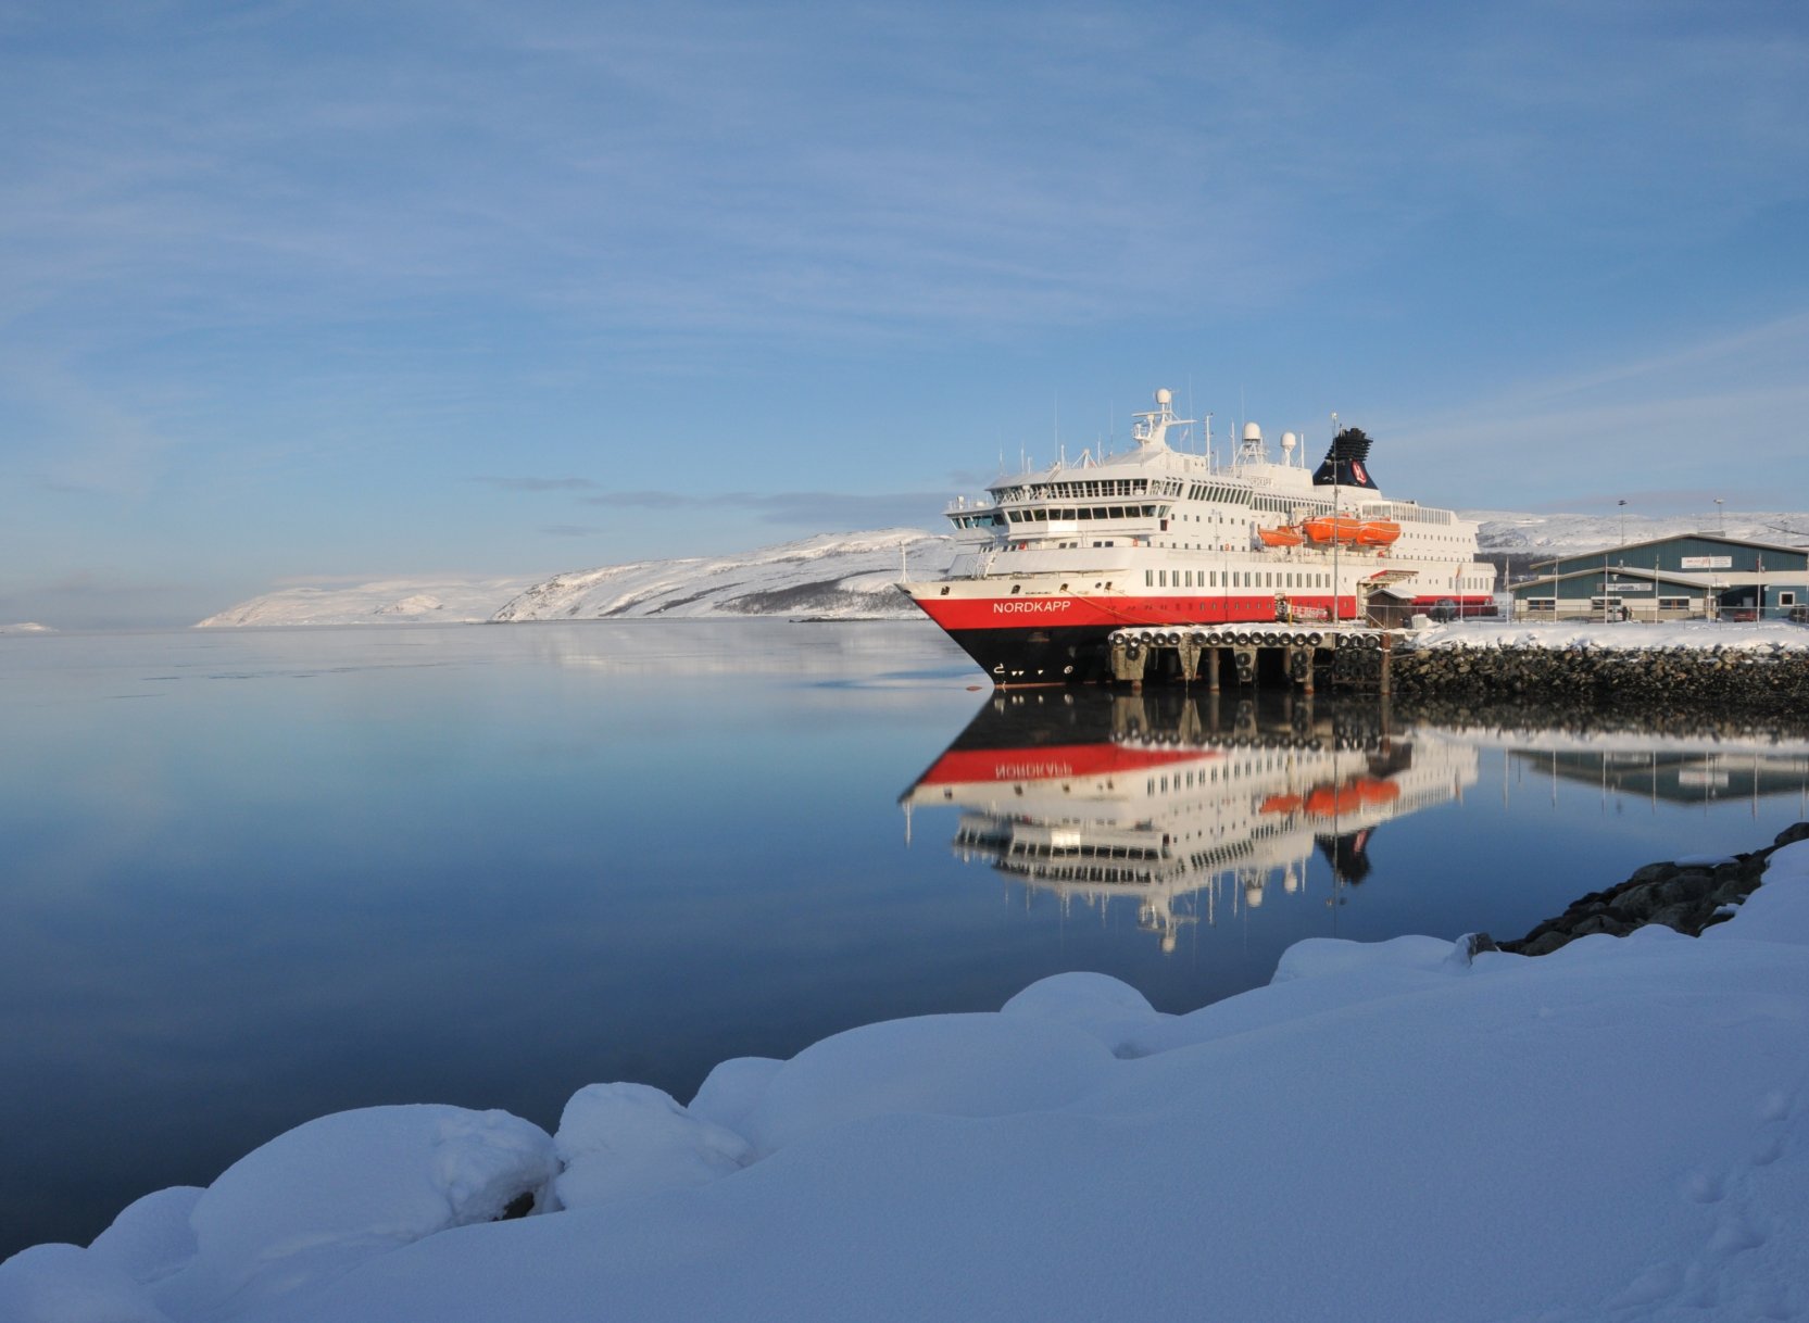
<path id="1" fill-rule="evenodd" d="M 1105 680 L 1107 640 L 1127 625 L 1337 625 L 1360 620 L 1377 591 L 1415 609 L 1494 613 L 1476 524 L 1384 495 L 1360 428 L 1339 430 L 1308 468 L 1293 432 L 1277 457 L 1248 423 L 1221 463 L 1210 439 L 1189 448 L 1192 425 L 1158 390 L 1131 450 L 957 501 L 948 575 L 899 587 L 999 687 Z"/>

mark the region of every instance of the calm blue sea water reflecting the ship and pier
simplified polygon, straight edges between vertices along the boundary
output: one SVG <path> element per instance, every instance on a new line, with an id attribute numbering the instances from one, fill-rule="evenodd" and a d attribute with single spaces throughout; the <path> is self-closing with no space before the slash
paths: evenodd
<path id="1" fill-rule="evenodd" d="M 980 683 L 915 624 L 0 638 L 0 1254 L 324 1112 L 1187 1010 L 1809 810 L 1800 743 Z"/>

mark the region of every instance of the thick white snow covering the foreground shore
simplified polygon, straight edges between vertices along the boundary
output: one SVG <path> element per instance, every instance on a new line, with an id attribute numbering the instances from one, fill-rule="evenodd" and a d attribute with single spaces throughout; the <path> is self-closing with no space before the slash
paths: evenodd
<path id="1" fill-rule="evenodd" d="M 1809 1318 L 1809 842 L 1700 940 L 1467 951 L 1302 942 L 1187 1016 L 1062 974 L 581 1090 L 557 1148 L 326 1117 L 14 1256 L 0 1318 Z"/>

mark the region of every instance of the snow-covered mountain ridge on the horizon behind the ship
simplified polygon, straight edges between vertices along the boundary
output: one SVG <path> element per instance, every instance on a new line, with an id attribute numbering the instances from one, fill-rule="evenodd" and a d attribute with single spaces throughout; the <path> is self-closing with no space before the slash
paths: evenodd
<path id="1" fill-rule="evenodd" d="M 1623 540 L 1695 531 L 1691 515 L 1525 515 L 1471 511 L 1483 551 L 1574 555 Z M 1795 542 L 1809 515 L 1729 513 L 1729 537 Z M 394 622 L 476 624 L 610 620 L 635 616 L 836 616 L 915 618 L 894 589 L 901 560 L 935 575 L 953 558 L 953 539 L 915 528 L 821 533 L 725 557 L 635 560 L 548 578 L 384 578 L 347 587 L 289 587 L 241 602 L 199 622 L 223 625 L 356 625 Z"/>

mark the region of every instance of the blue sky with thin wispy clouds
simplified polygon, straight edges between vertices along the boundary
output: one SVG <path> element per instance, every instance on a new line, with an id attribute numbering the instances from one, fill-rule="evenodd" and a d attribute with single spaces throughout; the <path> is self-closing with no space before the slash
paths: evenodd
<path id="1" fill-rule="evenodd" d="M 919 524 L 1151 389 L 1809 506 L 1809 9 L 4 4 L 0 624 Z"/>

